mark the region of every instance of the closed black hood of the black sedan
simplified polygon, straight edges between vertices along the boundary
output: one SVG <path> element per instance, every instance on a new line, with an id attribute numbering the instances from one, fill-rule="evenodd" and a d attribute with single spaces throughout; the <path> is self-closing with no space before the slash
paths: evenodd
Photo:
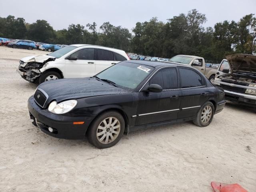
<path id="1" fill-rule="evenodd" d="M 44 82 L 38 86 L 52 100 L 60 102 L 67 99 L 78 99 L 93 96 L 124 94 L 132 90 L 125 90 L 97 80 L 96 78 L 70 78 Z"/>

